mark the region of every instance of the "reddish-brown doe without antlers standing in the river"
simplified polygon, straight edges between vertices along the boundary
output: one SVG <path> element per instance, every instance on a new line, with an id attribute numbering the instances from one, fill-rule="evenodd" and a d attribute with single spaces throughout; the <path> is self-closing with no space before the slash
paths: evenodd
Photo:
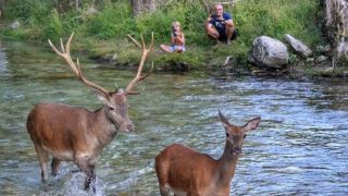
<path id="1" fill-rule="evenodd" d="M 226 133 L 224 154 L 219 160 L 189 147 L 173 144 L 156 157 L 156 172 L 160 193 L 167 196 L 228 196 L 229 183 L 235 174 L 246 133 L 256 130 L 261 118 L 250 120 L 244 126 L 231 124 L 219 111 Z"/>

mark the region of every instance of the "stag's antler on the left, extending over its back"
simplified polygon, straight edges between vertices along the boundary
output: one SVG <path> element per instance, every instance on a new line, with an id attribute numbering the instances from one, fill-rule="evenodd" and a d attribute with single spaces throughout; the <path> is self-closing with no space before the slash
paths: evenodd
<path id="1" fill-rule="evenodd" d="M 54 50 L 54 52 L 57 54 L 59 54 L 60 57 L 62 57 L 66 63 L 69 64 L 69 66 L 71 68 L 71 70 L 73 71 L 73 73 L 79 78 L 79 81 L 82 81 L 85 85 L 87 85 L 88 87 L 97 90 L 97 91 L 100 91 L 102 94 L 104 94 L 105 97 L 108 97 L 109 93 L 108 90 L 105 90 L 104 88 L 102 88 L 101 86 L 98 86 L 97 84 L 95 83 L 91 83 L 89 81 L 86 79 L 86 77 L 84 76 L 84 74 L 82 73 L 80 71 L 80 65 L 79 65 L 79 62 L 78 62 L 78 58 L 76 60 L 76 64 L 74 63 L 74 61 L 72 60 L 72 57 L 70 54 L 70 45 L 72 42 L 72 39 L 73 39 L 73 36 L 74 36 L 74 33 L 72 33 L 72 35 L 69 37 L 69 40 L 66 41 L 66 45 L 65 45 L 65 48 L 63 46 L 63 41 L 62 41 L 62 38 L 61 38 L 61 50 L 62 51 L 59 51 L 51 42 L 51 40 L 49 39 L 48 42 L 50 44 L 50 46 L 52 47 L 52 49 Z"/>

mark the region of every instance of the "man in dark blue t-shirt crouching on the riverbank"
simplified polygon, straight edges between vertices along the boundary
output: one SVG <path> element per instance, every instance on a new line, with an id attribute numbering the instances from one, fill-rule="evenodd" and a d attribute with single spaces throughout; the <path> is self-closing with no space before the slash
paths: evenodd
<path id="1" fill-rule="evenodd" d="M 231 40 L 237 37 L 237 32 L 231 14 L 224 12 L 222 4 L 215 5 L 215 13 L 207 19 L 207 34 L 217 42 L 231 45 Z"/>

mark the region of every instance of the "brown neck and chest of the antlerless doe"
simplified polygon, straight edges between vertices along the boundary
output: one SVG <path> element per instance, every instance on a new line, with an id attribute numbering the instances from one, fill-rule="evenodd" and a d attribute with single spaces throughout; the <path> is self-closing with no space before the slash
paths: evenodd
<path id="1" fill-rule="evenodd" d="M 239 155 L 232 152 L 232 145 L 226 142 L 224 154 L 217 160 L 219 167 L 216 171 L 216 184 L 229 186 L 231 180 L 236 171 Z"/>

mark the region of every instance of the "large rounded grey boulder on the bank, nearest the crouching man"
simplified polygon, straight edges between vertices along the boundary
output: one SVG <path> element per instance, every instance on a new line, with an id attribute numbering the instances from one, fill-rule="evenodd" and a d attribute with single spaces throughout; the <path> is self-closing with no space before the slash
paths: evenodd
<path id="1" fill-rule="evenodd" d="M 289 61 L 286 46 L 274 38 L 261 36 L 253 40 L 249 62 L 266 69 L 282 69 Z"/>

